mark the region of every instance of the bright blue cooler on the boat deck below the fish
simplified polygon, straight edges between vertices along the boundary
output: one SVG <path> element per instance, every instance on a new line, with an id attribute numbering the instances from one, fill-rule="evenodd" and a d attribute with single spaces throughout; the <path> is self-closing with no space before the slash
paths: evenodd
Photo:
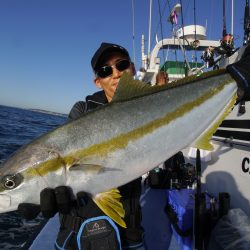
<path id="1" fill-rule="evenodd" d="M 173 235 L 183 250 L 193 249 L 193 211 L 195 190 L 167 190 L 166 212 L 171 221 Z"/>

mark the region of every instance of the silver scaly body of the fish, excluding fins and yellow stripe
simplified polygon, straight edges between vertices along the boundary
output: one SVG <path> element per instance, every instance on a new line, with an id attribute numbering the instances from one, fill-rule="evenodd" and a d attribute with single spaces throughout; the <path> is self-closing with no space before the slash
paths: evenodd
<path id="1" fill-rule="evenodd" d="M 209 105 L 202 103 L 199 108 L 194 107 L 187 114 L 182 114 L 180 119 L 160 125 L 162 127 L 156 126 L 153 131 L 144 131 L 145 127 L 148 124 L 154 125 L 157 119 L 195 101 L 204 93 L 212 93 L 218 86 L 223 85 L 226 79 L 228 77 L 225 74 L 219 75 L 129 101 L 111 103 L 38 138 L 3 163 L 0 176 L 18 172 L 30 167 L 29 165 L 36 165 L 53 157 L 66 156 L 69 153 L 74 155 L 75 151 L 101 144 L 122 134 L 126 135 L 136 129 L 139 129 L 141 134 L 141 137 L 127 141 L 124 148 L 113 149 L 106 156 L 98 156 L 96 150 L 97 155 L 80 159 L 80 164 L 99 165 L 104 171 L 91 172 L 86 168 L 65 173 L 59 169 L 55 173 L 50 172 L 46 181 L 33 178 L 20 189 L 4 192 L 12 197 L 9 208 L 1 208 L 1 199 L 2 202 L 6 201 L 6 196 L 0 193 L 0 211 L 11 211 L 19 202 L 32 200 L 39 203 L 37 194 L 46 185 L 55 187 L 65 184 L 70 185 L 75 192 L 84 190 L 96 194 L 139 177 L 192 143 L 230 100 L 232 92 L 236 90 L 236 84 L 223 89 L 218 98 L 209 98 Z M 22 165 L 19 165 L 20 162 Z M 30 193 L 28 190 L 33 186 L 36 186 L 36 192 Z"/>

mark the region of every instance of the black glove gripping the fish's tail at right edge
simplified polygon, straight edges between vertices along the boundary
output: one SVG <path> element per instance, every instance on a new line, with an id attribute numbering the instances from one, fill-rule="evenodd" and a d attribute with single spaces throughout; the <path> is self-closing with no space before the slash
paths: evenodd
<path id="1" fill-rule="evenodd" d="M 250 45 L 248 45 L 241 59 L 226 67 L 227 71 L 234 78 L 238 85 L 238 100 L 250 100 Z"/>

